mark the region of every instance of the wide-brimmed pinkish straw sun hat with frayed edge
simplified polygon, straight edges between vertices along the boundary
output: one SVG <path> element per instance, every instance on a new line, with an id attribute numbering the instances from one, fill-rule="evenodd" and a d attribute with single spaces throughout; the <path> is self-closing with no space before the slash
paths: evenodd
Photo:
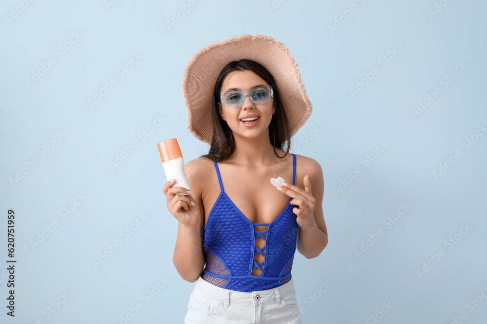
<path id="1" fill-rule="evenodd" d="M 199 140 L 211 144 L 211 101 L 216 79 L 225 65 L 240 59 L 260 63 L 272 74 L 287 115 L 291 136 L 296 134 L 312 110 L 298 65 L 284 44 L 259 34 L 212 42 L 191 57 L 183 73 L 182 85 L 187 129 Z"/>

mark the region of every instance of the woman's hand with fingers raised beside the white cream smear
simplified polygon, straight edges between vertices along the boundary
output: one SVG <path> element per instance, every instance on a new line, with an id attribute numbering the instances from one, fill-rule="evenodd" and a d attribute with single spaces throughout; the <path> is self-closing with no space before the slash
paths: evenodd
<path id="1" fill-rule="evenodd" d="M 316 199 L 311 195 L 311 182 L 309 181 L 308 175 L 304 176 L 303 183 L 304 190 L 298 186 L 290 185 L 285 182 L 282 183 L 282 188 L 276 188 L 289 197 L 294 198 L 290 203 L 291 205 L 299 206 L 299 208 L 293 208 L 293 212 L 298 216 L 296 222 L 300 228 L 304 229 L 313 223 L 316 224 L 313 215 Z"/>

